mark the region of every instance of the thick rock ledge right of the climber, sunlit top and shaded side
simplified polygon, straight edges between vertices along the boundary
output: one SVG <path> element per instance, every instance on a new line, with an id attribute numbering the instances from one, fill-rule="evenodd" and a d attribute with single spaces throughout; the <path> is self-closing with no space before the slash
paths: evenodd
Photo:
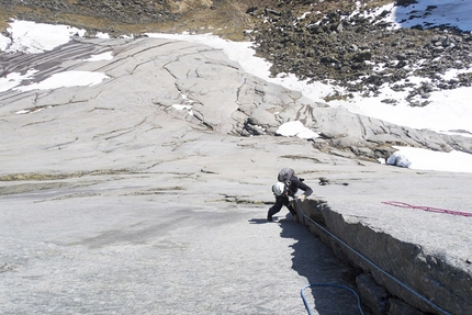
<path id="1" fill-rule="evenodd" d="M 402 182 L 401 199 L 416 206 L 459 206 L 467 199 L 460 188 L 467 178 L 415 176 Z M 470 314 L 472 252 L 468 225 L 472 218 L 383 203 L 397 194 L 400 182 L 389 178 L 375 183 L 382 185 L 382 181 L 389 189 L 375 194 L 368 192 L 363 182 L 342 189 L 335 183 L 324 189 L 327 201 L 301 204 L 299 217 L 338 258 L 359 268 L 358 291 L 374 314 Z M 439 195 L 430 194 L 432 187 Z M 414 188 L 415 193 L 407 192 Z M 347 202 L 348 194 L 351 198 Z M 445 207 L 439 209 L 448 210 Z"/>

